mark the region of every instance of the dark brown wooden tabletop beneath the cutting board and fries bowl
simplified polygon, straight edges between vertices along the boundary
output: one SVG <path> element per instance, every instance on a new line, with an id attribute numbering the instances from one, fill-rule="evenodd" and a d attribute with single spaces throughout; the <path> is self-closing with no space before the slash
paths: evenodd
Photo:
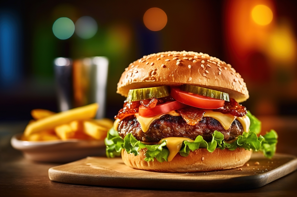
<path id="1" fill-rule="evenodd" d="M 31 162 L 23 158 L 9 143 L 13 133 L 20 132 L 24 123 L 0 124 L 0 196 L 296 196 L 297 171 L 268 185 L 253 190 L 234 188 L 233 191 L 148 190 L 107 188 L 56 183 L 48 178 L 48 169 L 59 165 Z M 297 143 L 286 136 L 295 128 L 276 128 L 279 133 L 278 151 L 297 156 Z M 248 184 L 248 183 L 247 183 Z M 242 190 L 243 189 L 243 190 Z"/>

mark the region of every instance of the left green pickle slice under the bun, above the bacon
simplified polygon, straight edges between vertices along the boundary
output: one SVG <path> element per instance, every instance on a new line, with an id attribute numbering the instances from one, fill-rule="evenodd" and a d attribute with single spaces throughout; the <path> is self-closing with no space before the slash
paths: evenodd
<path id="1" fill-rule="evenodd" d="M 141 100 L 151 99 L 153 97 L 156 99 L 162 98 L 170 95 L 169 90 L 170 90 L 169 86 L 129 90 L 126 101 L 127 102 L 141 101 Z"/>

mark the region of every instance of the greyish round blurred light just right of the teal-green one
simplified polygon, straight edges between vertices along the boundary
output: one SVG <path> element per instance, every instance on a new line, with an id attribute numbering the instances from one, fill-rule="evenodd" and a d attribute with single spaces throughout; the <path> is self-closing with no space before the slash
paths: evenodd
<path id="1" fill-rule="evenodd" d="M 92 17 L 83 16 L 75 22 L 75 33 L 80 38 L 92 38 L 97 33 L 97 30 L 97 22 Z"/>

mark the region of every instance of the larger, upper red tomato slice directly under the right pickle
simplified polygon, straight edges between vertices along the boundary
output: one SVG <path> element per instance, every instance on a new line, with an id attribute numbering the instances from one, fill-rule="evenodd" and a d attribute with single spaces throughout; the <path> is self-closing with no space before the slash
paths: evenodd
<path id="1" fill-rule="evenodd" d="M 173 99 L 181 103 L 203 109 L 218 109 L 224 106 L 225 103 L 225 101 L 221 99 L 214 99 L 208 96 L 181 91 L 179 88 L 171 88 L 170 94 Z"/>

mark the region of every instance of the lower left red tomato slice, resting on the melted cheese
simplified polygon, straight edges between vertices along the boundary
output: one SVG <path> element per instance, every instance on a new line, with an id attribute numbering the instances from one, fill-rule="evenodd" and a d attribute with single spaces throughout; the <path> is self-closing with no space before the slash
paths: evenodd
<path id="1" fill-rule="evenodd" d="M 165 114 L 167 112 L 171 112 L 173 110 L 181 109 L 186 107 L 185 104 L 182 104 L 178 101 L 170 101 L 166 103 L 159 104 L 152 109 L 147 109 L 144 106 L 140 105 L 138 113 L 142 117 L 154 116 L 158 114 Z"/>

